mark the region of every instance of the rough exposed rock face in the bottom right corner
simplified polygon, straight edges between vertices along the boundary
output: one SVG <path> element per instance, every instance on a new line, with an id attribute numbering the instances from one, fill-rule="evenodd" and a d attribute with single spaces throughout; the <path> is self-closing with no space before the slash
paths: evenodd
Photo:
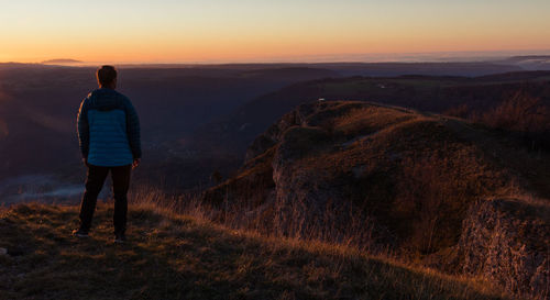
<path id="1" fill-rule="evenodd" d="M 516 295 L 550 299 L 550 210 L 514 199 L 482 201 L 464 220 L 465 273 Z"/>

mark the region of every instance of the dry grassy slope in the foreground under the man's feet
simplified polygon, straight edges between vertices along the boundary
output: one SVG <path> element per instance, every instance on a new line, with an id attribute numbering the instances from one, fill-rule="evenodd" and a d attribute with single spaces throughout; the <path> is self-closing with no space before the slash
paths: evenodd
<path id="1" fill-rule="evenodd" d="M 501 299 L 473 280 L 147 207 L 131 208 L 130 243 L 116 245 L 111 215 L 100 204 L 92 236 L 77 240 L 75 207 L 1 211 L 0 299 Z"/>

